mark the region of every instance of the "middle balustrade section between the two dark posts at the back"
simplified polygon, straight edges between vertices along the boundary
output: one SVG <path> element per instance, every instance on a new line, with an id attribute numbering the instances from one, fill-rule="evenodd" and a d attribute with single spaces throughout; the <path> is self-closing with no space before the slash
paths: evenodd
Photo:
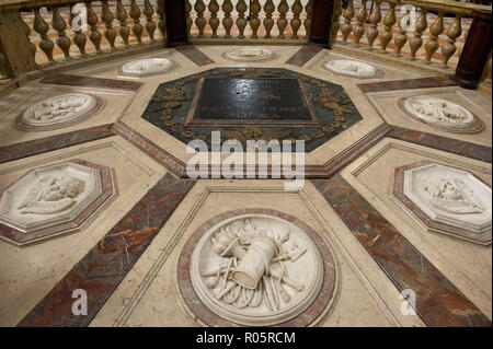
<path id="1" fill-rule="evenodd" d="M 308 40 L 312 0 L 185 0 L 188 38 Z"/>

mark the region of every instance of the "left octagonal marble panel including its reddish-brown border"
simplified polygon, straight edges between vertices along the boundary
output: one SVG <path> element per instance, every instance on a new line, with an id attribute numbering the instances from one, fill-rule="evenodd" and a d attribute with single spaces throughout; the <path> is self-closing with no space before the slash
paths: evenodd
<path id="1" fill-rule="evenodd" d="M 0 193 L 0 236 L 23 244 L 67 232 L 112 194 L 106 166 L 72 160 L 32 170 Z"/>

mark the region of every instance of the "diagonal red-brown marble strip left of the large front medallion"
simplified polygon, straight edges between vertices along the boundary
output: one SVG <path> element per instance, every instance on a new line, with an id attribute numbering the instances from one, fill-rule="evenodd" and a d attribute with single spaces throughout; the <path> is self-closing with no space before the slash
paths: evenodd
<path id="1" fill-rule="evenodd" d="M 164 175 L 18 326 L 88 326 L 194 183 Z M 72 314 L 76 289 L 88 292 L 88 315 Z"/>

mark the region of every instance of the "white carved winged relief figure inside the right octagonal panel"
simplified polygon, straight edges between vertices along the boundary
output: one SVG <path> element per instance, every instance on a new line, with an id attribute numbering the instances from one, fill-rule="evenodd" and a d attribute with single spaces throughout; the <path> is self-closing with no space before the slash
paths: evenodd
<path id="1" fill-rule="evenodd" d="M 455 214 L 482 213 L 485 208 L 474 191 L 458 178 L 438 178 L 422 184 L 437 209 Z"/>

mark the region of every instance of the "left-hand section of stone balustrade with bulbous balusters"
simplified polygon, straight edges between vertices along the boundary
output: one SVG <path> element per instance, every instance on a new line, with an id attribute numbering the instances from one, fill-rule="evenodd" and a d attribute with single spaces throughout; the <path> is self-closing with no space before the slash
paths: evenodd
<path id="1" fill-rule="evenodd" d="M 163 47 L 164 10 L 157 0 L 54 0 L 0 3 L 0 15 L 9 20 L 10 32 L 24 33 L 27 63 L 20 72 Z M 1 27 L 0 31 L 7 31 Z M 1 35 L 0 35 L 1 39 Z M 22 45 L 21 45 L 22 46 Z M 27 48 L 27 49 L 25 49 Z M 9 69 L 0 46 L 0 79 Z M 24 71 L 22 71 L 24 70 Z"/>

